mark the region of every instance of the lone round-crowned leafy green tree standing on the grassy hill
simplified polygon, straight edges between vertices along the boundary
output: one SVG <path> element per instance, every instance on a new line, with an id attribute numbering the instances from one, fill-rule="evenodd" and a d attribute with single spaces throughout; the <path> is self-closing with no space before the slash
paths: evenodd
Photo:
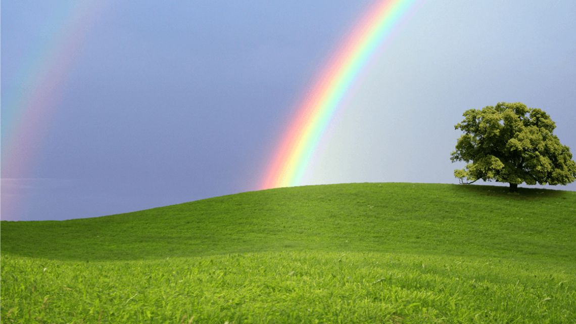
<path id="1" fill-rule="evenodd" d="M 570 148 L 552 134 L 556 125 L 543 110 L 523 103 L 498 103 L 467 110 L 463 116 L 454 128 L 464 134 L 450 157 L 452 162 L 468 163 L 454 170 L 461 183 L 507 182 L 514 192 L 523 182 L 568 184 L 576 179 Z"/>

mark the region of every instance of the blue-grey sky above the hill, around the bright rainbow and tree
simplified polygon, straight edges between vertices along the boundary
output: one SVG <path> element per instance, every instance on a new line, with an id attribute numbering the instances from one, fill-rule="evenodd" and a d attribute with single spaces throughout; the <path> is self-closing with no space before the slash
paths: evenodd
<path id="1" fill-rule="evenodd" d="M 2 220 L 259 189 L 298 103 L 373 3 L 3 0 Z M 458 183 L 454 125 L 499 101 L 546 111 L 576 153 L 574 17 L 571 0 L 416 1 L 301 184 Z"/>

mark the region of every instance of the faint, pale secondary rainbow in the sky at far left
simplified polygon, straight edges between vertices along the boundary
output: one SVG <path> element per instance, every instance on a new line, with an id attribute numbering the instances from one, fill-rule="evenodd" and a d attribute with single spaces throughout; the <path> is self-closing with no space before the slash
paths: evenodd
<path id="1" fill-rule="evenodd" d="M 14 84 L 2 97 L 1 178 L 30 178 L 50 128 L 51 116 L 104 1 L 62 2 L 53 6 L 36 48 L 22 58 Z"/>

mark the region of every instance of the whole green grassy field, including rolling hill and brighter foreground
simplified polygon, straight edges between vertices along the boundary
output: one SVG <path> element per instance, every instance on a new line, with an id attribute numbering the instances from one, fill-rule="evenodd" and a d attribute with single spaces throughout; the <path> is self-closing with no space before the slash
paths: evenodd
<path id="1" fill-rule="evenodd" d="M 576 193 L 358 183 L 1 223 L 2 323 L 576 323 Z"/>

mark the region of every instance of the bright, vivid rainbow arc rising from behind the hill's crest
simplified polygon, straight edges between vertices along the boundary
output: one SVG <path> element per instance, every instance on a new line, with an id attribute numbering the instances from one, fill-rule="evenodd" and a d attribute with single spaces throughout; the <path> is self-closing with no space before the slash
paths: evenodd
<path id="1" fill-rule="evenodd" d="M 276 146 L 261 189 L 300 184 L 340 101 L 362 67 L 389 38 L 415 2 L 379 0 L 367 10 L 296 109 L 296 115 Z"/>

